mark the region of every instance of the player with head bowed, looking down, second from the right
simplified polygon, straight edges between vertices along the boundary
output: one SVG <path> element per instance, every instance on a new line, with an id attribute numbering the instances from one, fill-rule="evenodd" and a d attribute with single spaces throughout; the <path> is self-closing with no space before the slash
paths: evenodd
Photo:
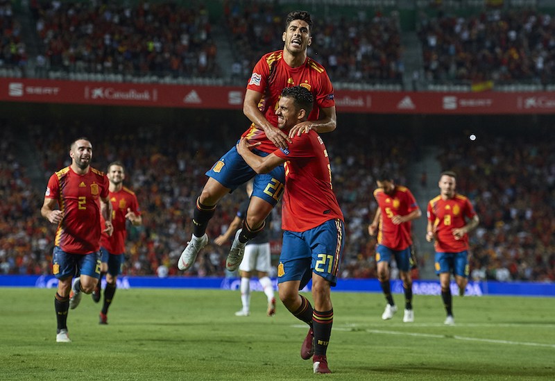
<path id="1" fill-rule="evenodd" d="M 422 212 L 420 212 L 411 191 L 407 187 L 395 185 L 388 171 L 380 172 L 376 183 L 378 188 L 374 191 L 374 197 L 378 208 L 374 221 L 368 226 L 368 232 L 370 235 L 375 235 L 379 226 L 376 246 L 377 276 L 387 300 L 382 319 L 391 319 L 397 312 L 397 305 L 391 295 L 388 271 L 391 257 L 395 257 L 404 288 L 403 321 L 411 323 L 414 321 L 411 277 L 414 260 L 411 251 L 411 221 L 420 218 Z"/>

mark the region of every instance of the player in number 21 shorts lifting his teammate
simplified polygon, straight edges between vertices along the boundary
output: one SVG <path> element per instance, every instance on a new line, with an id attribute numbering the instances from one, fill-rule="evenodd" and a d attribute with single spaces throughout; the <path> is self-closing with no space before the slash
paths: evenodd
<path id="1" fill-rule="evenodd" d="M 306 120 L 312 107 L 312 94 L 305 87 L 284 88 L 275 111 L 278 126 L 291 130 Z M 246 137 L 237 144 L 239 155 L 256 173 L 268 173 L 285 163 L 280 299 L 297 319 L 310 325 L 301 357 L 314 355 L 314 373 L 331 373 L 326 357 L 334 316 L 330 287 L 337 282 L 345 230 L 343 213 L 332 191 L 330 159 L 314 130 L 292 137 L 287 149 L 277 149 L 265 157 L 250 151 L 256 144 L 249 144 Z M 310 278 L 314 309 L 298 292 Z"/>

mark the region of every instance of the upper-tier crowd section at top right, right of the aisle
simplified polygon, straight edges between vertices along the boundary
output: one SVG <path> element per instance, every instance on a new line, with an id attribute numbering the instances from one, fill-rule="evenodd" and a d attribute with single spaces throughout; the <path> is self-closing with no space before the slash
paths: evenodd
<path id="1" fill-rule="evenodd" d="M 552 83 L 555 21 L 536 10 L 491 10 L 457 17 L 421 14 L 427 80 Z"/>

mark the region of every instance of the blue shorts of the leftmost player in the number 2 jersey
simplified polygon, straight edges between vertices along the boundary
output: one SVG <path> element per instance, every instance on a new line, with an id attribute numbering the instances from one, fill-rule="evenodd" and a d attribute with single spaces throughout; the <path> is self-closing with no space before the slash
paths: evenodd
<path id="1" fill-rule="evenodd" d="M 100 278 L 100 251 L 86 255 L 71 254 L 62 251 L 60 246 L 54 246 L 52 264 L 54 276 L 58 279 L 75 276 L 76 268 L 81 275 Z"/>

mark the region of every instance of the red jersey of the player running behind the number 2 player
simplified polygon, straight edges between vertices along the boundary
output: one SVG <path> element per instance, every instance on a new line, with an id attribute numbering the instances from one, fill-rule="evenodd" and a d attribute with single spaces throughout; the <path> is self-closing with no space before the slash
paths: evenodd
<path id="1" fill-rule="evenodd" d="M 102 247 L 108 253 L 113 255 L 123 254 L 126 251 L 126 214 L 127 208 L 131 208 L 131 212 L 141 215 L 139 203 L 135 193 L 126 187 L 122 187 L 118 192 L 110 192 L 110 202 L 112 203 L 112 225 L 114 232 L 112 237 L 103 232 L 102 233 Z M 101 227 L 104 230 L 104 219 L 101 218 Z"/>

